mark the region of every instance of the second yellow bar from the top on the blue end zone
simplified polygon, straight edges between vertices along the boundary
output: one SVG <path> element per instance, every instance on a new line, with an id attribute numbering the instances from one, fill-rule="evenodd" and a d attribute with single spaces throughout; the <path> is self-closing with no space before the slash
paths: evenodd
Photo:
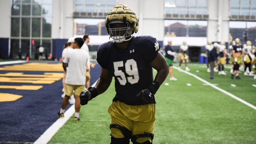
<path id="1" fill-rule="evenodd" d="M 0 76 L 63 78 L 63 73 L 44 73 L 43 75 L 6 73 L 6 74 L 0 74 Z"/>

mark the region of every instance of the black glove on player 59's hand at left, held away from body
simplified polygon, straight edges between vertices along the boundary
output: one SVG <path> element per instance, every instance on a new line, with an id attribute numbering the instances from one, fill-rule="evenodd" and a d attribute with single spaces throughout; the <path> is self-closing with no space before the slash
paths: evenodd
<path id="1" fill-rule="evenodd" d="M 88 101 L 90 101 L 92 98 L 96 97 L 98 95 L 97 89 L 94 87 L 89 87 L 87 91 L 82 91 L 80 93 L 80 104 L 86 105 Z"/>

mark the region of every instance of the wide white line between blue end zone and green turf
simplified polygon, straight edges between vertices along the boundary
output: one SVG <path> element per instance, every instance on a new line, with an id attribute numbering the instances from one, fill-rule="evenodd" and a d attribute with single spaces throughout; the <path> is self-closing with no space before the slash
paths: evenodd
<path id="1" fill-rule="evenodd" d="M 98 80 L 97 80 L 98 81 Z M 96 85 L 96 82 L 92 86 Z M 65 113 L 65 117 L 59 118 L 52 124 L 37 140 L 34 144 L 47 144 L 55 133 L 68 121 L 68 119 L 75 113 L 75 104 L 73 104 Z M 56 114 L 57 115 L 57 114 Z"/>

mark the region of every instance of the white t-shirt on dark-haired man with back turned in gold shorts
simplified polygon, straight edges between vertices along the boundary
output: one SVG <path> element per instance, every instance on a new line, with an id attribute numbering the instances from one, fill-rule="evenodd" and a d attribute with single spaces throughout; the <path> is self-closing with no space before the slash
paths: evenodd
<path id="1" fill-rule="evenodd" d="M 85 85 L 85 71 L 89 54 L 81 49 L 69 50 L 63 60 L 68 63 L 65 83 L 70 85 Z"/>

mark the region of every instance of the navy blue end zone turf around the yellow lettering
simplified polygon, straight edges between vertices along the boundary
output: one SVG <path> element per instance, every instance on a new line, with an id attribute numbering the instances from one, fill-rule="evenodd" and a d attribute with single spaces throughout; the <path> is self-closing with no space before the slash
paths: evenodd
<path id="1" fill-rule="evenodd" d="M 11 66 L 9 65 L 0 65 Z M 19 64 L 13 64 L 19 65 Z M 21 63 L 22 65 L 22 63 Z M 13 71 L 0 70 L 0 74 L 23 73 L 43 75 L 47 73 L 63 73 L 61 71 Z M 99 78 L 100 65 L 91 69 L 91 85 Z M 3 76 L 0 76 L 3 77 Z M 12 77 L 14 78 L 14 77 Z M 17 77 L 18 78 L 18 77 Z M 59 117 L 57 112 L 62 103 L 62 79 L 52 84 L 32 84 L 23 82 L 2 82 L 0 86 L 41 85 L 39 90 L 16 90 L 0 88 L 0 93 L 22 95 L 23 97 L 11 102 L 0 102 L 0 143 L 33 143 Z M 1 99 L 1 97 L 0 97 Z M 69 104 L 66 110 L 70 107 Z"/>

